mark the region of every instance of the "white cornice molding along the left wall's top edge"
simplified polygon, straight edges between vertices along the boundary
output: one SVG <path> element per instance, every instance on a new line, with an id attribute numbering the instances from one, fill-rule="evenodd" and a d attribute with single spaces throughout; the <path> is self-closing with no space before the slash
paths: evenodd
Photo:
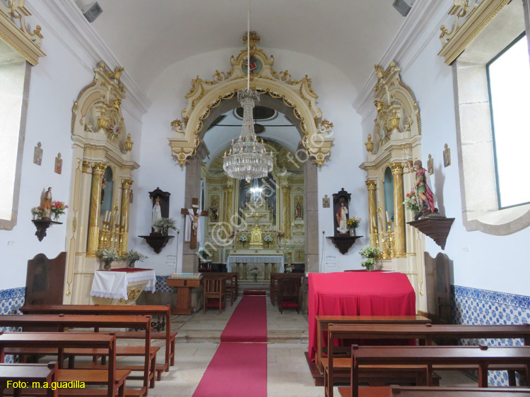
<path id="1" fill-rule="evenodd" d="M 130 109 L 131 114 L 141 115 L 147 112 L 151 107 L 151 100 L 127 73 L 127 65 L 123 65 L 114 55 L 73 0 L 28 0 L 27 6 L 43 26 L 42 34 L 52 33 L 91 75 L 99 61 L 105 61 L 111 69 L 116 66 L 124 67 L 121 78 L 127 89 L 124 107 L 127 107 L 126 102 L 131 101 L 134 108 Z M 141 121 L 141 117 L 139 120 Z"/>

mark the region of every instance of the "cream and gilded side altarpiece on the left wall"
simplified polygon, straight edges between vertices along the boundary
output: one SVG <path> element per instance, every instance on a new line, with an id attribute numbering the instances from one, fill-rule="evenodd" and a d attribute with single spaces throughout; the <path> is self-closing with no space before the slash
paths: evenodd
<path id="1" fill-rule="evenodd" d="M 65 303 L 88 304 L 98 249 L 125 254 L 129 239 L 133 141 L 122 115 L 123 69 L 100 62 L 94 80 L 73 102 L 73 170 L 67 229 Z"/>

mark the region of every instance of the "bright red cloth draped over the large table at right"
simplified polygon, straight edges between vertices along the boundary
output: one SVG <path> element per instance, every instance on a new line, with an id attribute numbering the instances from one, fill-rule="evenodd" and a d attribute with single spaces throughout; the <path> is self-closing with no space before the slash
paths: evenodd
<path id="1" fill-rule="evenodd" d="M 347 272 L 309 275 L 309 355 L 317 352 L 314 316 L 413 316 L 416 294 L 403 273 Z"/>

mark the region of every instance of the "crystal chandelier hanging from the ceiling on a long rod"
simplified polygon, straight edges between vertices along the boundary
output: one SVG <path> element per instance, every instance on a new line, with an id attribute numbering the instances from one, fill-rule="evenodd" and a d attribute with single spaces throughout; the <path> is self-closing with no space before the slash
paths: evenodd
<path id="1" fill-rule="evenodd" d="M 229 177 L 252 179 L 266 177 L 273 167 L 272 153 L 267 153 L 263 144 L 254 134 L 252 109 L 259 102 L 259 93 L 250 89 L 250 3 L 247 14 L 247 88 L 237 91 L 237 100 L 243 107 L 241 134 L 237 142 L 232 140 L 230 151 L 225 152 L 223 170 Z"/>

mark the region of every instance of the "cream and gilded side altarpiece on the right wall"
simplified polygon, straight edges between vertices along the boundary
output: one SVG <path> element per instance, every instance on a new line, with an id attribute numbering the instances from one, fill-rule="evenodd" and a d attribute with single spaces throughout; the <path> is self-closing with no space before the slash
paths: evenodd
<path id="1" fill-rule="evenodd" d="M 420 111 L 411 88 L 391 62 L 376 65 L 374 129 L 365 143 L 367 156 L 360 165 L 367 172 L 370 244 L 379 247 L 384 270 L 406 273 L 416 290 L 416 307 L 426 312 L 423 251 L 425 239 L 407 225 L 413 213 L 404 208 L 404 196 L 414 186 L 412 162 L 421 158 Z"/>

